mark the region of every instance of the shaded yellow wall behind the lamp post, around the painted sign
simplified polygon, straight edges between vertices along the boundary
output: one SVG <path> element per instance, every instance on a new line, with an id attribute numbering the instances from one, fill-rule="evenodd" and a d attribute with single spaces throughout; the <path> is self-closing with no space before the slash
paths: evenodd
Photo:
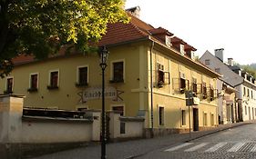
<path id="1" fill-rule="evenodd" d="M 140 62 L 143 62 L 143 59 L 146 59 L 146 56 L 139 57 L 139 52 L 143 52 L 143 49 L 143 45 L 127 45 L 109 48 L 108 51 L 110 52 L 110 55 L 108 56 L 108 67 L 105 72 L 106 86 L 115 87 L 117 90 L 124 91 L 124 93 L 120 94 L 123 101 L 115 102 L 112 101 L 112 99 L 106 99 L 107 110 L 111 110 L 111 106 L 124 105 L 126 115 L 130 116 L 138 114 L 140 105 L 139 93 L 136 90 L 139 90 L 140 87 L 145 89 L 145 86 L 147 86 L 146 84 L 140 84 L 146 81 L 145 76 L 147 75 L 139 75 L 139 70 L 141 74 L 147 74 L 147 72 L 141 70 L 139 66 Z M 140 58 L 142 58 L 142 60 Z M 124 83 L 110 84 L 110 75 L 112 74 L 111 62 L 117 60 L 124 61 Z M 15 66 L 15 69 L 10 75 L 14 76 L 14 94 L 26 95 L 26 107 L 76 110 L 77 107 L 86 106 L 89 109 L 101 109 L 101 100 L 90 100 L 87 101 L 86 104 L 79 103 L 80 96 L 78 93 L 83 91 L 83 88 L 77 88 L 75 84 L 77 82 L 77 66 L 81 65 L 88 66 L 87 87 L 101 87 L 102 75 L 97 55 L 71 55 L 67 58 L 61 57 L 28 65 Z M 48 90 L 46 88 L 49 83 L 49 72 L 52 70 L 59 70 L 59 88 L 57 90 Z M 38 91 L 28 93 L 29 77 L 30 74 L 33 73 L 38 73 L 39 75 Z M 144 79 L 139 79 L 139 77 L 143 77 Z M 0 89 L 2 93 L 5 91 L 5 79 L 0 80 Z M 147 90 L 147 88 L 145 90 Z M 145 98 L 147 95 L 141 96 L 146 101 Z M 143 101 L 142 104 L 147 104 L 147 102 Z"/>

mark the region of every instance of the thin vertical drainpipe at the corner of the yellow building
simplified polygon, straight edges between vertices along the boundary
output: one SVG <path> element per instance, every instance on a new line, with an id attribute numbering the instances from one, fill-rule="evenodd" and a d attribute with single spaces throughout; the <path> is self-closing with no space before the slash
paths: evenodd
<path id="1" fill-rule="evenodd" d="M 154 112 L 153 112 L 153 64 L 152 64 L 152 51 L 154 48 L 154 41 L 152 41 L 151 48 L 150 48 L 150 100 L 151 100 L 151 111 L 150 111 L 150 116 L 151 116 L 151 130 L 150 130 L 150 137 L 154 137 Z"/>

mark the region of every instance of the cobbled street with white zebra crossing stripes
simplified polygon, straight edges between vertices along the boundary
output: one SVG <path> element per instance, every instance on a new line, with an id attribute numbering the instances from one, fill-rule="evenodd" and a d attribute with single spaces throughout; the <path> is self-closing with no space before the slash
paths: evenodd
<path id="1" fill-rule="evenodd" d="M 179 143 L 137 157 L 138 159 L 255 159 L 256 124 L 245 124 L 217 134 Z"/>

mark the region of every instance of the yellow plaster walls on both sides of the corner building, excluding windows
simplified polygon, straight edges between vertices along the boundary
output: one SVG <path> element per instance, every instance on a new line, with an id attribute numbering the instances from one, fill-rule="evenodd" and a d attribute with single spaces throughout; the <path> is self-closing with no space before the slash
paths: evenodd
<path id="1" fill-rule="evenodd" d="M 150 43 L 136 43 L 119 45 L 108 48 L 110 55 L 108 57 L 108 67 L 106 69 L 106 87 L 115 87 L 123 91 L 120 97 L 123 101 L 113 101 L 106 99 L 107 110 L 112 106 L 125 106 L 125 115 L 136 116 L 138 110 L 145 110 L 146 127 L 150 127 Z M 170 51 L 169 51 L 170 52 Z M 152 52 L 153 66 L 153 114 L 154 127 L 162 128 L 189 128 L 188 106 L 185 103 L 185 94 L 180 94 L 174 90 L 172 79 L 179 78 L 180 73 L 185 74 L 186 79 L 191 82 L 192 77 L 197 78 L 198 84 L 202 81 L 207 85 L 213 84 L 216 87 L 216 81 L 213 77 L 202 73 L 198 67 L 192 67 L 183 62 L 184 57 L 176 59 L 169 52 L 154 49 Z M 112 62 L 124 62 L 124 83 L 109 83 L 111 80 Z M 170 84 L 159 88 L 157 86 L 157 63 L 164 65 L 164 71 L 169 72 Z M 82 88 L 77 88 L 77 66 L 88 66 L 88 86 L 101 87 L 101 68 L 97 55 L 71 55 L 59 57 L 43 62 L 36 62 L 28 65 L 15 66 L 11 76 L 14 76 L 14 94 L 25 94 L 26 107 L 44 107 L 58 108 L 65 110 L 76 110 L 77 107 L 87 107 L 89 109 L 101 109 L 101 99 L 87 101 L 86 104 L 80 104 Z M 59 70 L 59 89 L 48 90 L 49 71 Z M 208 72 L 207 70 L 205 71 Z M 38 91 L 28 93 L 30 74 L 39 74 Z M 84 88 L 84 89 L 86 89 Z M 1 92 L 5 90 L 5 79 L 0 80 Z M 159 125 L 159 106 L 164 107 L 164 125 Z M 202 125 L 202 115 L 206 112 L 209 116 L 207 126 L 210 126 L 210 114 L 214 115 L 214 124 L 217 124 L 217 104 L 216 100 L 203 100 L 199 108 L 199 121 Z M 186 125 L 181 125 L 181 110 L 186 110 Z M 192 111 L 192 109 L 191 109 Z M 192 118 L 192 115 L 191 115 Z"/>

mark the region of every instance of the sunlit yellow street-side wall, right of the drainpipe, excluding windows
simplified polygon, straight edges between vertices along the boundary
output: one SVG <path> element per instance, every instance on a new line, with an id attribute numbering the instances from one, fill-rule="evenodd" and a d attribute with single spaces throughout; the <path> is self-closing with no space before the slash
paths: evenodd
<path id="1" fill-rule="evenodd" d="M 192 78 L 197 79 L 197 84 L 202 84 L 205 82 L 207 87 L 212 84 L 214 88 L 216 88 L 216 80 L 205 73 L 200 72 L 200 69 L 197 67 L 191 67 L 191 65 L 187 65 L 185 62 L 181 63 L 180 60 L 172 58 L 169 53 L 165 53 L 155 49 L 152 51 L 152 68 L 153 68 L 153 114 L 154 127 L 160 128 L 178 128 L 178 129 L 189 129 L 189 107 L 186 106 L 185 94 L 180 94 L 174 88 L 175 82 L 173 79 L 178 79 L 180 77 L 180 73 L 184 74 L 186 80 L 189 80 L 189 86 L 191 86 Z M 148 68 L 150 68 L 150 49 L 148 48 Z M 180 55 L 180 58 L 181 55 Z M 182 61 L 182 60 L 181 60 Z M 169 72 L 169 80 L 170 84 L 165 84 L 163 87 L 158 87 L 158 72 L 157 72 L 157 63 L 164 65 L 164 71 Z M 150 87 L 150 70 L 148 69 L 148 88 Z M 210 115 L 213 114 L 213 124 L 218 124 L 218 109 L 217 109 L 217 101 L 216 99 L 210 101 L 209 99 L 202 99 L 201 94 L 198 94 L 200 97 L 200 105 L 193 106 L 199 109 L 199 126 L 200 127 L 208 127 L 213 126 L 210 123 Z M 148 93 L 148 101 L 150 101 L 150 91 Z M 148 104 L 150 108 L 151 104 Z M 159 125 L 159 106 L 164 107 L 164 124 Z M 193 124 L 193 111 L 190 107 L 190 119 L 191 119 L 191 129 Z M 181 124 L 181 110 L 186 111 L 186 124 Z M 148 112 L 148 122 L 150 124 L 150 110 Z M 203 114 L 207 114 L 207 124 L 203 124 Z"/>

